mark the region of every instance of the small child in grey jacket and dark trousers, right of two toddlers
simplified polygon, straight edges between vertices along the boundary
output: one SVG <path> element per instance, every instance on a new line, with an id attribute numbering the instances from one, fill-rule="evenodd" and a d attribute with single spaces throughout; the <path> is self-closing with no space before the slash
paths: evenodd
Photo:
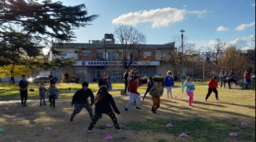
<path id="1" fill-rule="evenodd" d="M 53 107 L 55 107 L 55 99 L 59 96 L 59 90 L 55 84 L 55 82 L 51 82 L 51 86 L 47 89 L 47 97 L 49 98 L 49 102 L 51 102 L 50 106 Z"/>

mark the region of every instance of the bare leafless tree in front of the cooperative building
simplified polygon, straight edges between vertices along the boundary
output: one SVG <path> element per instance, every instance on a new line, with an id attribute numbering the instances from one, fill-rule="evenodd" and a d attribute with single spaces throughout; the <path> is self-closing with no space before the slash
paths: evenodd
<path id="1" fill-rule="evenodd" d="M 121 44 L 121 47 L 116 48 L 117 54 L 123 67 L 128 70 L 131 63 L 139 59 L 139 47 L 146 44 L 146 36 L 131 25 L 119 25 L 115 27 L 114 33 Z"/>

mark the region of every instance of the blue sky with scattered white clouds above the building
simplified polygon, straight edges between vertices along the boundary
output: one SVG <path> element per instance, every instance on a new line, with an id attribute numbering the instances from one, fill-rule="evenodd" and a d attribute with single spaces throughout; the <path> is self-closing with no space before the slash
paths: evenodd
<path id="1" fill-rule="evenodd" d="M 55 0 L 52 0 L 55 2 Z M 195 49 L 213 47 L 216 39 L 248 49 L 255 35 L 253 0 L 59 0 L 63 5 L 85 4 L 88 16 L 99 15 L 87 27 L 75 30 L 76 43 L 101 40 L 119 25 L 142 32 L 146 44 L 167 44 L 181 36 Z M 114 35 L 115 36 L 115 35 Z M 44 53 L 49 49 L 45 49 Z"/>

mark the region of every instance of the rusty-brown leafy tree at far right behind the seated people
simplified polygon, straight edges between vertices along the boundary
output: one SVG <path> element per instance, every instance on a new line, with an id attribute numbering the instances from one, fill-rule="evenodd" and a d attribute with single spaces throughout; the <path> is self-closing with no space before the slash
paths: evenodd
<path id="1" fill-rule="evenodd" d="M 226 55 L 222 57 L 222 62 L 227 71 L 233 69 L 236 72 L 238 79 L 243 78 L 245 70 L 251 68 L 253 65 L 253 62 L 245 54 L 241 54 L 241 50 L 237 50 L 236 46 L 227 48 Z"/>

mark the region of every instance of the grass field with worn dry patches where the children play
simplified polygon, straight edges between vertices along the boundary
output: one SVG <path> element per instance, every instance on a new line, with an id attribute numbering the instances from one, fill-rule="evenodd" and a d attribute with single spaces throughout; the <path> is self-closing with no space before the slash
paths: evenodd
<path id="1" fill-rule="evenodd" d="M 114 88 L 122 88 L 122 85 L 114 84 Z M 81 88 L 79 85 L 57 85 L 60 90 L 69 86 L 74 90 Z M 90 88 L 94 87 L 96 89 L 98 86 L 90 84 Z M 20 100 L 19 92 L 12 92 L 14 88 L 1 85 L 1 100 Z M 145 88 L 140 87 L 139 92 L 143 94 Z M 8 94 L 8 90 L 11 93 Z M 0 141 L 106 141 L 106 135 L 113 137 L 110 141 L 255 141 L 255 90 L 218 88 L 218 92 L 220 100 L 216 100 L 212 94 L 205 102 L 207 87 L 197 85 L 193 106 L 189 106 L 187 94 L 177 88 L 173 94 L 175 98 L 166 98 L 166 94 L 161 97 L 161 106 L 156 115 L 150 111 L 152 100 L 149 95 L 146 100 L 141 100 L 141 111 L 135 110 L 135 105 L 131 104 L 128 112 L 123 108 L 129 97 L 114 96 L 121 111 L 117 119 L 123 131 L 119 133 L 113 127 L 105 127 L 108 123 L 113 125 L 106 115 L 102 115 L 92 133 L 86 133 L 90 124 L 86 109 L 70 123 L 73 106 L 69 99 L 57 100 L 55 108 L 51 108 L 49 103 L 39 106 L 38 100 L 28 102 L 27 107 L 21 107 L 19 103 L 17 106 L 11 102 L 0 103 L 0 129 L 3 130 Z M 30 93 L 29 99 L 34 93 L 33 97 L 37 98 L 36 91 Z M 65 97 L 71 96 L 73 94 Z M 9 110 L 5 110 L 6 107 Z M 248 125 L 241 125 L 243 121 Z M 169 123 L 173 126 L 166 127 Z M 45 127 L 51 127 L 51 131 L 44 131 Z M 231 137 L 232 132 L 238 135 Z M 181 133 L 189 136 L 180 137 Z"/>

